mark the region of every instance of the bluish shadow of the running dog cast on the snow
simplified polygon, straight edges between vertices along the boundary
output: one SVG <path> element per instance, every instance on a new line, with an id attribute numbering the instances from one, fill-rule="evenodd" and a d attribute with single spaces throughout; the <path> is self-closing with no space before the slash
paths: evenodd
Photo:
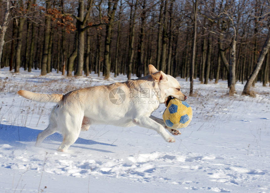
<path id="1" fill-rule="evenodd" d="M 0 141 L 7 142 L 10 145 L 22 145 L 21 142 L 35 142 L 37 135 L 42 130 L 38 129 L 31 129 L 28 127 L 21 127 L 21 126 L 12 126 L 12 125 L 4 125 L 0 124 Z M 56 148 L 60 145 L 55 142 L 62 142 L 63 137 L 59 133 L 54 133 L 50 136 L 48 136 L 43 143 L 48 144 L 56 144 Z M 83 144 L 85 146 L 76 146 L 74 144 Z M 83 149 L 89 149 L 94 151 L 100 151 L 100 152 L 107 152 L 107 153 L 114 153 L 111 151 L 103 150 L 103 149 L 95 149 L 95 148 L 89 148 L 86 147 L 86 145 L 107 145 L 107 146 L 116 146 L 108 143 L 100 143 L 96 142 L 90 139 L 83 139 L 78 138 L 76 142 L 71 147 L 77 147 L 77 148 L 83 148 Z"/>

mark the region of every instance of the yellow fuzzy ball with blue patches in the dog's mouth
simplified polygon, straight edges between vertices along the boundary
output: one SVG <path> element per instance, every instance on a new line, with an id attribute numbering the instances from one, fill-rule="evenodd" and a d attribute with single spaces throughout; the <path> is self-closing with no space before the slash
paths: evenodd
<path id="1" fill-rule="evenodd" d="M 188 126 L 192 120 L 192 108 L 184 101 L 171 99 L 163 115 L 163 121 L 172 129 Z"/>

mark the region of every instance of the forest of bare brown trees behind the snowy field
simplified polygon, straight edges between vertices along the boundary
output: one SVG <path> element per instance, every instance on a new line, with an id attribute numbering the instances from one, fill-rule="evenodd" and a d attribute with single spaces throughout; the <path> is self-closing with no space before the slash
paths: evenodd
<path id="1" fill-rule="evenodd" d="M 0 0 L 0 65 L 269 86 L 270 0 Z M 1 69 L 0 69 L 1 70 Z M 83 74 L 84 73 L 84 74 Z"/>

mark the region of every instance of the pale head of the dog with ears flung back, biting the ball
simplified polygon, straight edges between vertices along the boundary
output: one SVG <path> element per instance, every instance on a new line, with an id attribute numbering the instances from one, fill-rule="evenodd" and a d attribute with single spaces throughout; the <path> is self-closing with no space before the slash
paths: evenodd
<path id="1" fill-rule="evenodd" d="M 158 84 L 160 89 L 161 100 L 160 103 L 165 103 L 167 106 L 170 99 L 176 98 L 178 100 L 186 100 L 186 95 L 181 93 L 180 84 L 172 76 L 165 74 L 162 71 L 158 71 L 153 65 L 149 65 L 149 74 L 153 80 Z"/>

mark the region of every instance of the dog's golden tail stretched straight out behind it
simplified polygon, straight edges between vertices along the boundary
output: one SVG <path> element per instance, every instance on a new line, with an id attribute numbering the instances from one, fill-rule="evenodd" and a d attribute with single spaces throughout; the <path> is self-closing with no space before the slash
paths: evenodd
<path id="1" fill-rule="evenodd" d="M 39 94 L 39 93 L 33 93 L 26 90 L 19 90 L 17 93 L 26 99 L 35 100 L 38 102 L 45 102 L 45 103 L 48 103 L 48 102 L 59 103 L 64 98 L 63 94 Z"/>

